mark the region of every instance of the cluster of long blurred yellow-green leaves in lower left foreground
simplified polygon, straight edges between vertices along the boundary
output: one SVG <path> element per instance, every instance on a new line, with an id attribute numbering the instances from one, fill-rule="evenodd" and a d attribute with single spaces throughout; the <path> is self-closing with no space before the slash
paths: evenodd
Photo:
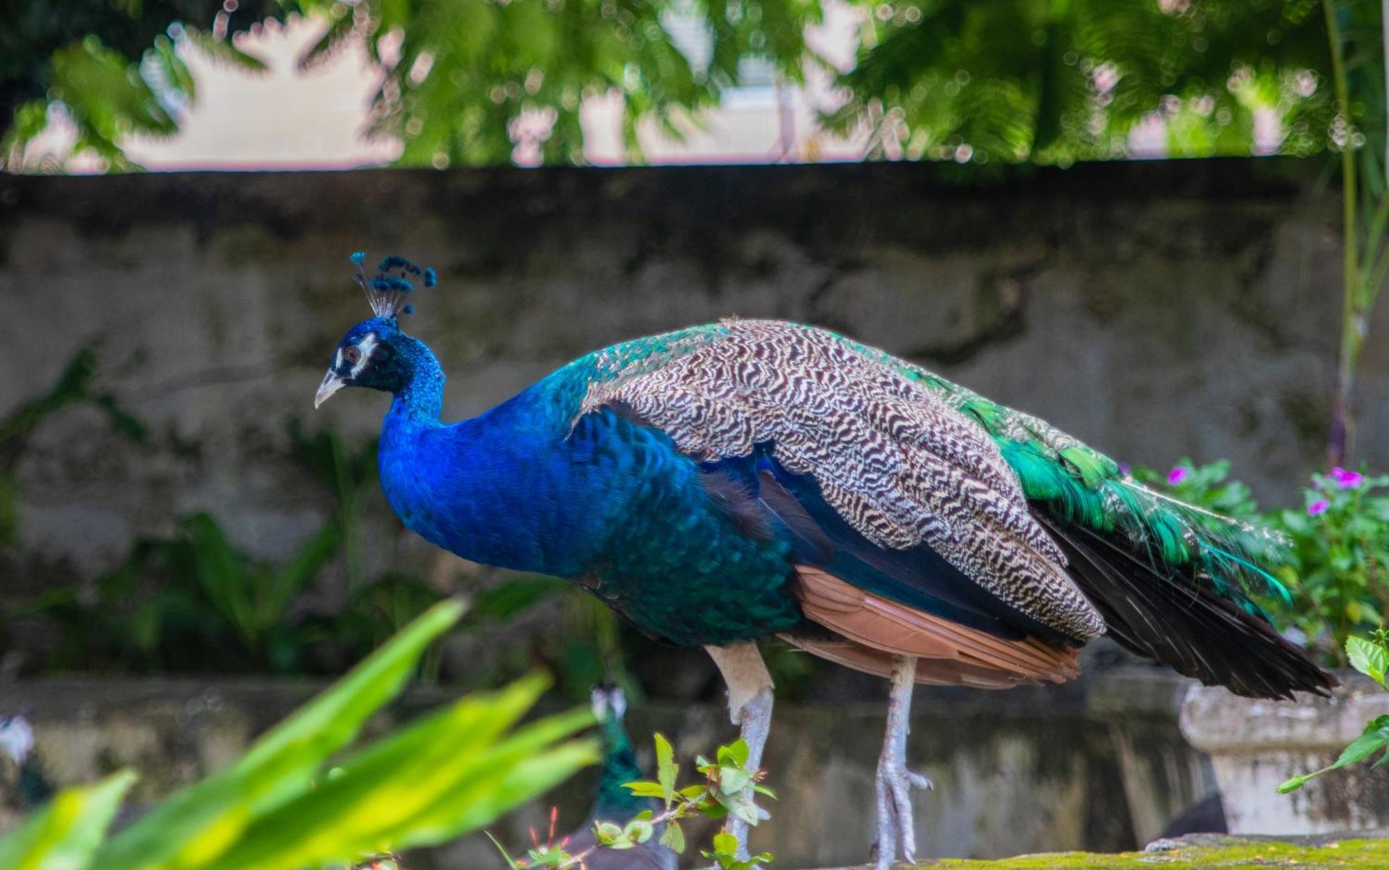
<path id="1" fill-rule="evenodd" d="M 101 842 L 129 774 L 68 789 L 0 841 L 4 866 L 74 870 L 351 864 L 475 830 L 597 760 L 576 710 L 518 727 L 544 691 L 529 677 L 464 698 L 331 764 L 404 687 L 463 612 L 443 602 L 258 739 L 228 770 Z M 38 831 L 38 834 L 35 832 Z"/>

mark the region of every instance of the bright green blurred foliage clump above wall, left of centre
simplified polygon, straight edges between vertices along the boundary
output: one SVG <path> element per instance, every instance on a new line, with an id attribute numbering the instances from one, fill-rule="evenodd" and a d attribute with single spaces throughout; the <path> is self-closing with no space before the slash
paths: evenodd
<path id="1" fill-rule="evenodd" d="M 681 135 L 681 118 L 713 106 L 739 81 L 746 57 L 771 60 L 800 81 L 804 28 L 820 21 L 818 0 L 300 0 L 325 14 L 311 65 L 349 36 L 364 36 L 385 78 L 372 99 L 371 132 L 400 138 L 406 165 L 508 163 L 524 118 L 539 118 L 544 163 L 582 163 L 579 104 L 615 95 L 624 140 L 639 154 L 636 125 L 653 118 Z M 711 39 L 710 57 L 692 60 L 672 21 L 685 18 Z M 399 51 L 382 38 L 400 33 Z"/>

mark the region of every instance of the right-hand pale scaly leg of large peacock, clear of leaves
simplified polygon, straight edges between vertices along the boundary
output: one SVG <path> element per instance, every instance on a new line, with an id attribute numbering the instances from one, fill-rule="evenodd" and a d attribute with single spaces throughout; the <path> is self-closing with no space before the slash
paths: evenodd
<path id="1" fill-rule="evenodd" d="M 911 688 L 917 680 L 917 660 L 895 656 L 892 692 L 888 696 L 888 732 L 878 757 L 878 853 L 876 870 L 888 870 L 901 846 L 901 860 L 911 863 L 917 853 L 917 827 L 911 814 L 911 789 L 931 788 L 931 780 L 907 770 L 907 734 L 911 731 Z"/>

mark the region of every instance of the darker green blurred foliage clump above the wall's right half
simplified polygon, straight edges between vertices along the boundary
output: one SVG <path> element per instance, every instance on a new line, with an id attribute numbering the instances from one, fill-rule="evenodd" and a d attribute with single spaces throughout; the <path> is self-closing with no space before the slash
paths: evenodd
<path id="1" fill-rule="evenodd" d="M 1122 157 L 1129 132 L 1161 117 L 1174 156 L 1249 154 L 1258 110 L 1282 117 L 1285 151 L 1326 145 L 1331 60 L 1315 0 L 864 6 L 857 64 L 839 76 L 851 96 L 828 122 L 867 125 L 876 153 Z"/>

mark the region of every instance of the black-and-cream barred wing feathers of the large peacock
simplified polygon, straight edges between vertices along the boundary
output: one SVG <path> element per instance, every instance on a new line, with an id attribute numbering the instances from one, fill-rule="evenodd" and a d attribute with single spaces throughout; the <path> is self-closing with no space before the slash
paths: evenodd
<path id="1" fill-rule="evenodd" d="M 703 463 L 764 452 L 879 552 L 929 550 L 1064 638 L 1104 631 L 995 439 L 939 392 L 822 329 L 725 321 L 706 335 L 592 379 L 581 413 L 622 407 Z"/>

